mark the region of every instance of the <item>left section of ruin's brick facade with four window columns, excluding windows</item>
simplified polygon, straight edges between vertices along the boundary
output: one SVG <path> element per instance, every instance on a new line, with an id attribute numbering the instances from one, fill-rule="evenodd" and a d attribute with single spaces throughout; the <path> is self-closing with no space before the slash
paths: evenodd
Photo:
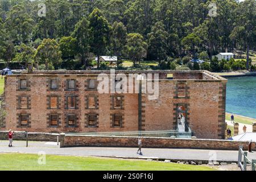
<path id="1" fill-rule="evenodd" d="M 61 78 L 61 91 L 51 92 L 47 91 L 47 77 L 40 76 L 28 76 L 31 81 L 31 91 L 16 91 L 17 78 L 7 77 L 5 86 L 5 102 L 6 102 L 6 129 L 12 129 L 17 131 L 23 131 L 26 128 L 20 128 L 17 126 L 17 113 L 31 113 L 31 127 L 28 131 L 37 132 L 104 132 L 104 131 L 138 131 L 138 94 L 125 94 L 124 97 L 124 110 L 111 110 L 110 109 L 110 94 L 98 94 L 94 91 L 85 91 L 84 80 L 86 77 L 64 77 Z M 64 81 L 66 78 L 76 78 L 79 82 L 79 91 L 67 91 L 64 92 Z M 47 109 L 47 95 L 57 94 L 61 96 L 60 109 Z M 64 103 L 64 96 L 68 93 L 74 93 L 79 96 L 79 109 L 66 110 Z M 20 94 L 26 94 L 31 96 L 31 109 L 16 110 L 16 96 Z M 99 109 L 88 110 L 85 109 L 85 96 L 88 94 L 98 95 Z M 61 115 L 61 127 L 53 128 L 47 127 L 47 114 L 59 113 Z M 65 127 L 65 113 L 76 113 L 79 117 L 79 127 L 68 128 Z M 85 114 L 96 113 L 98 114 L 98 127 L 87 128 L 85 127 Z M 112 128 L 110 121 L 110 114 L 124 114 L 124 127 Z"/>

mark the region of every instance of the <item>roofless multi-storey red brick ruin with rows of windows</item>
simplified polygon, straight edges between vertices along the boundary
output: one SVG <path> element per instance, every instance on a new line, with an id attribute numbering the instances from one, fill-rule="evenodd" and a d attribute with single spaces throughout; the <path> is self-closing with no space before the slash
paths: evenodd
<path id="1" fill-rule="evenodd" d="M 174 130 L 182 115 L 197 138 L 224 139 L 225 78 L 208 71 L 115 71 L 159 73 L 159 97 L 150 100 L 142 92 L 98 93 L 97 76 L 103 72 L 110 76 L 110 71 L 34 71 L 6 76 L 7 115 L 0 130 Z"/>

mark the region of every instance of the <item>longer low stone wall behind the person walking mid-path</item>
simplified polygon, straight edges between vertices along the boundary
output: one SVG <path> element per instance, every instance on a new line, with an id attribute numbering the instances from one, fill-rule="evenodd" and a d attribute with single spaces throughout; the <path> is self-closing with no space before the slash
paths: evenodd
<path id="1" fill-rule="evenodd" d="M 144 137 L 143 147 L 155 148 L 196 148 L 210 150 L 238 150 L 238 146 L 248 148 L 249 142 L 219 139 L 177 139 Z M 251 143 L 256 150 L 255 143 Z M 60 134 L 60 147 L 137 147 L 138 137 L 82 136 Z"/>

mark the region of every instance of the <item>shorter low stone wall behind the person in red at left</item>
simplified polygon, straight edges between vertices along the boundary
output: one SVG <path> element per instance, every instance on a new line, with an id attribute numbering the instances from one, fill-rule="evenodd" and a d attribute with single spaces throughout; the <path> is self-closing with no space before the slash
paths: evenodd
<path id="1" fill-rule="evenodd" d="M 59 134 L 28 132 L 28 140 L 56 142 L 58 135 Z M 0 140 L 7 140 L 7 139 L 8 139 L 8 131 L 0 131 Z M 26 140 L 24 131 L 15 131 L 13 135 L 13 139 Z"/>

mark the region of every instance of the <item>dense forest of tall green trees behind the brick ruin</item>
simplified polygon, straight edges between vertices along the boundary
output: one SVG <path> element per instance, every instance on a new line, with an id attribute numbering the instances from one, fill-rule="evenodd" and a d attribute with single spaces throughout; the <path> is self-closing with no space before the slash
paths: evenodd
<path id="1" fill-rule="evenodd" d="M 86 69 L 95 56 L 115 55 L 118 64 L 154 60 L 172 68 L 175 60 L 213 61 L 240 49 L 250 69 L 255 27 L 255 0 L 0 0 L 0 60 Z"/>

